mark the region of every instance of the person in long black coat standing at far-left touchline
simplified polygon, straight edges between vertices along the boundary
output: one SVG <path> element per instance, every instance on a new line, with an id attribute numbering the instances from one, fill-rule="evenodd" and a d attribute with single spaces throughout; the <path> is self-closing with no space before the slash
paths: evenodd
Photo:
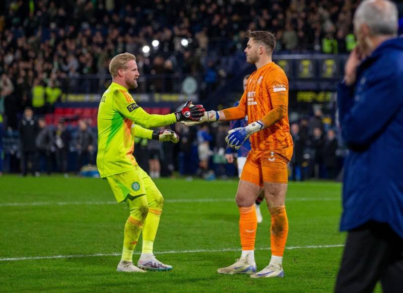
<path id="1" fill-rule="evenodd" d="M 19 126 L 22 176 L 27 176 L 29 164 L 32 175 L 40 175 L 38 171 L 38 150 L 35 143 L 38 134 L 38 122 L 33 115 L 32 109 L 26 108 Z"/>

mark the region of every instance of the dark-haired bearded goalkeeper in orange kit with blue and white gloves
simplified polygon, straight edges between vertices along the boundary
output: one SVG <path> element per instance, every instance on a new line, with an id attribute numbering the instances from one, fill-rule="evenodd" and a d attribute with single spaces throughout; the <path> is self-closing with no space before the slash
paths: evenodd
<path id="1" fill-rule="evenodd" d="M 283 277 L 283 254 L 288 235 L 285 196 L 288 183 L 287 163 L 293 153 L 293 141 L 288 121 L 288 79 L 272 61 L 276 47 L 274 34 L 249 31 L 245 49 L 246 61 L 256 69 L 237 107 L 205 112 L 200 121 L 185 122 L 191 126 L 217 120 L 237 120 L 248 117 L 245 127 L 232 129 L 226 141 L 238 149 L 250 139 L 251 151 L 239 180 L 236 203 L 239 209 L 239 234 L 242 254 L 234 264 L 219 268 L 223 274 L 245 273 L 253 278 Z M 254 202 L 261 191 L 271 214 L 270 263 L 257 272 L 254 244 L 257 219 Z"/>

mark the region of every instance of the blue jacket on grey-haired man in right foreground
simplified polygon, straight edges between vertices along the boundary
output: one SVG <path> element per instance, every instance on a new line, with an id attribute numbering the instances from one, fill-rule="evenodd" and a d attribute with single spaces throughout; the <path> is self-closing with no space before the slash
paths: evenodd
<path id="1" fill-rule="evenodd" d="M 383 42 L 338 88 L 345 162 L 342 231 L 387 223 L 403 238 L 403 38 Z"/>

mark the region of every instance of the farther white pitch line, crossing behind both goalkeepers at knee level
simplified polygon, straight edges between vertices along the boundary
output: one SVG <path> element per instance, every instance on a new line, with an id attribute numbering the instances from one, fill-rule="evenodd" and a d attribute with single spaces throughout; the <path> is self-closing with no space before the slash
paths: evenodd
<path id="1" fill-rule="evenodd" d="M 286 201 L 332 201 L 340 200 L 340 197 L 290 197 Z M 166 203 L 180 203 L 180 202 L 227 202 L 233 201 L 234 198 L 199 198 L 199 199 L 165 199 Z M 108 205 L 117 204 L 116 201 L 60 201 L 60 202 L 1 202 L 2 206 L 43 206 L 43 205 Z"/>

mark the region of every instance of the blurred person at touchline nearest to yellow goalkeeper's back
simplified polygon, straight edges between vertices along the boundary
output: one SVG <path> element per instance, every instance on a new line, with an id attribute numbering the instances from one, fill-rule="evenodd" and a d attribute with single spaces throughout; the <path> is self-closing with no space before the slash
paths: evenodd
<path id="1" fill-rule="evenodd" d="M 81 169 L 86 164 L 94 164 L 95 137 L 84 120 L 79 121 L 79 131 L 77 135 L 78 164 Z"/>

